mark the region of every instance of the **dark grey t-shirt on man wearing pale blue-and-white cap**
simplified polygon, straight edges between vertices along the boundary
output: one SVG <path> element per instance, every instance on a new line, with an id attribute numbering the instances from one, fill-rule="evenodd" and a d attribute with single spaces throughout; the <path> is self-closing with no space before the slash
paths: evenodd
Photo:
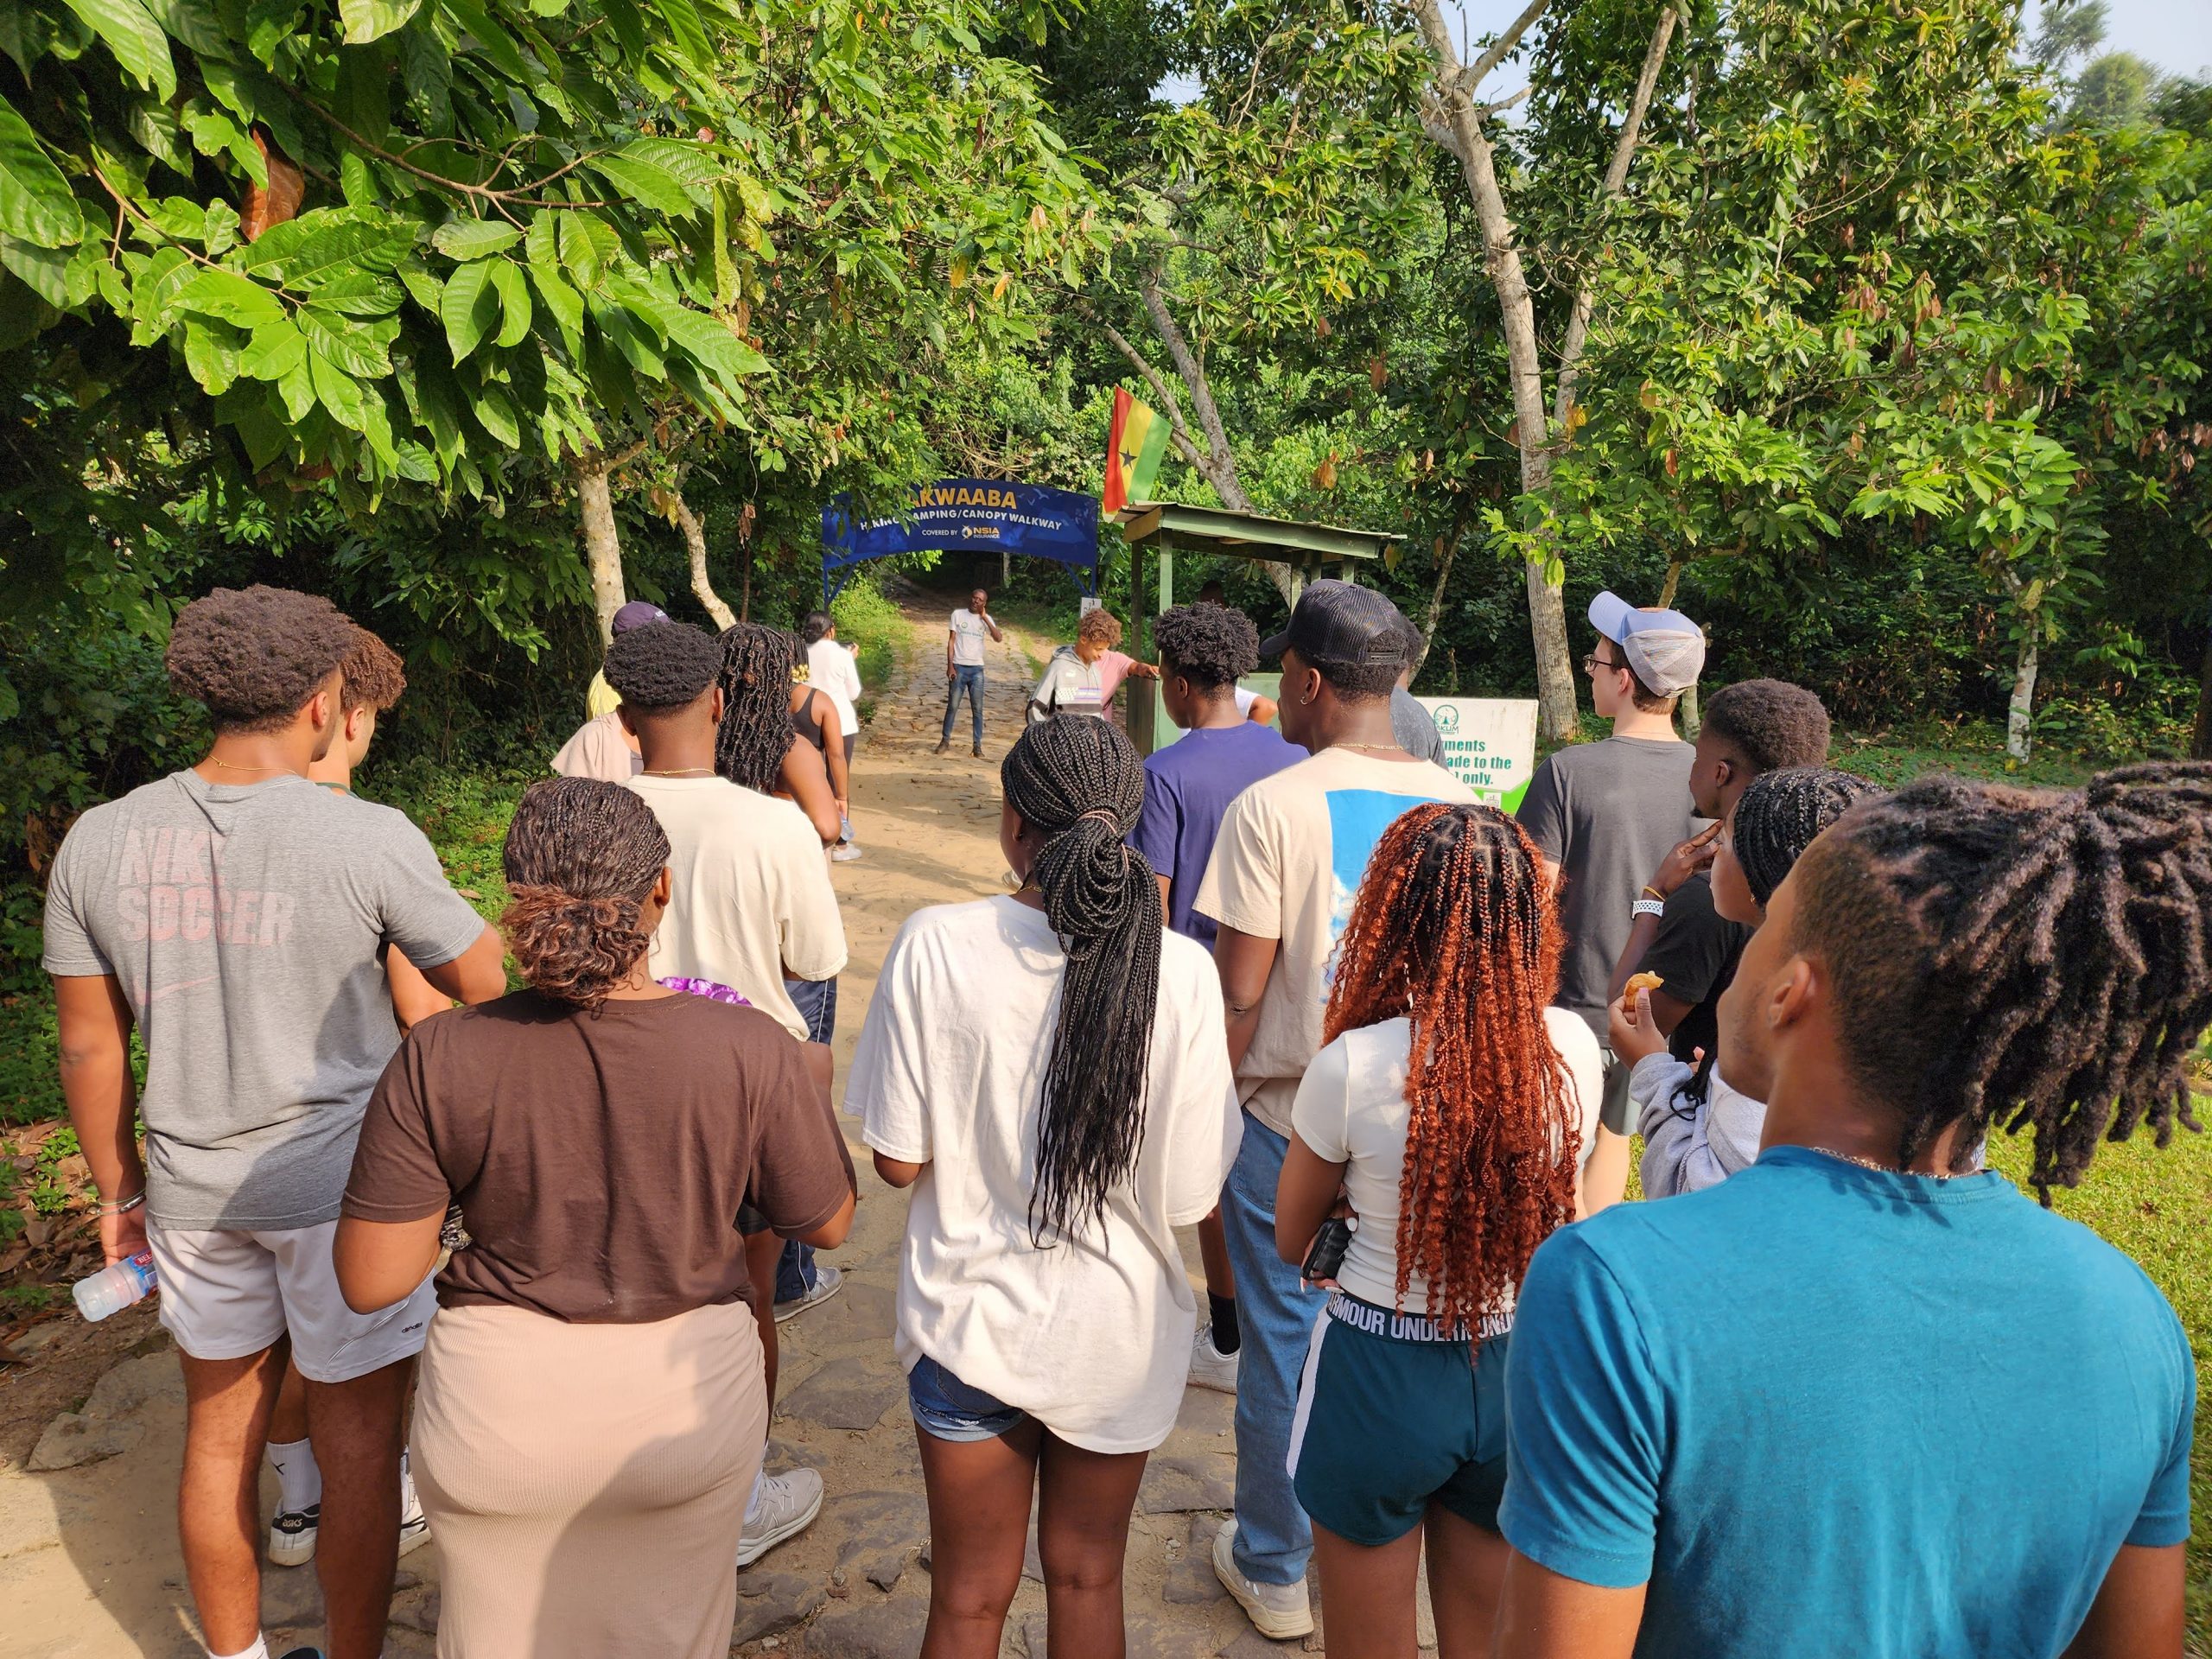
<path id="1" fill-rule="evenodd" d="M 1628 947 L 1628 907 L 1659 860 L 1694 827 L 1690 763 L 1681 739 L 1608 737 L 1546 759 L 1528 779 L 1522 830 L 1559 865 L 1559 1006 L 1606 1042 L 1606 984 Z"/>

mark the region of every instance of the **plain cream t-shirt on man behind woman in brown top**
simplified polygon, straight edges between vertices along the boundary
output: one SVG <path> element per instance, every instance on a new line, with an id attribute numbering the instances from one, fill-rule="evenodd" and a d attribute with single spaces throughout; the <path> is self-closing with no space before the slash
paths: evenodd
<path id="1" fill-rule="evenodd" d="M 728 779 L 639 774 L 630 787 L 670 847 L 675 891 L 646 958 L 653 978 L 728 984 L 805 1042 L 785 971 L 827 980 L 845 967 L 845 922 L 807 814 Z"/>

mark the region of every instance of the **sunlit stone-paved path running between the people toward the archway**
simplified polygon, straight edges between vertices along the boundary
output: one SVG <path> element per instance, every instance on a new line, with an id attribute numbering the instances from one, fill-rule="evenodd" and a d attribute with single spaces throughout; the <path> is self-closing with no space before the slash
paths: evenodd
<path id="1" fill-rule="evenodd" d="M 841 1082 L 900 920 L 922 905 L 1006 889 L 998 759 L 1020 732 L 1031 661 L 1044 646 L 1009 637 L 991 648 L 987 759 L 967 752 L 964 706 L 953 750 L 936 757 L 947 608 L 933 595 L 907 595 L 914 646 L 854 761 L 854 827 L 867 856 L 834 867 L 852 947 L 836 1033 Z M 805 1535 L 741 1577 L 732 1632 L 739 1652 L 894 1659 L 920 1646 L 927 1515 L 889 1343 L 905 1199 L 874 1179 L 849 1119 L 847 1135 L 860 1168 L 860 1212 L 847 1245 L 823 1256 L 845 1270 L 845 1290 L 781 1327 L 783 1380 L 770 1447 L 772 1467 L 821 1469 L 827 1504 Z M 1186 1261 L 1197 1267 L 1192 1239 Z M 29 1365 L 0 1371 L 0 1659 L 197 1659 L 204 1650 L 192 1635 L 173 1517 L 181 1383 L 166 1334 L 148 1310 L 97 1327 L 55 1321 L 44 1329 L 58 1334 Z M 113 1447 L 111 1455 L 29 1473 L 42 1427 L 80 1407 L 80 1438 L 93 1449 Z M 1256 1659 L 1276 1650 L 1223 1599 L 1208 1566 L 1234 1478 L 1230 1418 L 1228 1396 L 1192 1389 L 1181 1427 L 1152 1458 L 1128 1544 L 1133 1655 Z M 389 1652 L 431 1652 L 436 1542 L 400 1562 L 400 1584 Z M 272 1652 L 312 1641 L 321 1624 L 314 1571 L 268 1568 L 263 1608 Z M 1042 1584 L 1024 1577 L 1004 1652 L 1042 1659 Z"/>

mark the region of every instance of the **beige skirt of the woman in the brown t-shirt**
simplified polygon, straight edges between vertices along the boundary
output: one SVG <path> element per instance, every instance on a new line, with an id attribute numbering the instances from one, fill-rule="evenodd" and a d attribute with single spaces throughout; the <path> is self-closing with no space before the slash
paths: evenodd
<path id="1" fill-rule="evenodd" d="M 765 1440 L 743 1303 L 655 1325 L 440 1310 L 409 1442 L 440 1657 L 723 1659 Z"/>

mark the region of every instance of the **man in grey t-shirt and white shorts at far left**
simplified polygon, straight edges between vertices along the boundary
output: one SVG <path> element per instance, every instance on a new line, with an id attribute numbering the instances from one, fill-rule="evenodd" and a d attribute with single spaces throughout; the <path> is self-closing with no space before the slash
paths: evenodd
<path id="1" fill-rule="evenodd" d="M 378 953 L 398 945 L 462 1002 L 507 989 L 500 936 L 422 832 L 307 781 L 338 734 L 356 639 L 305 593 L 188 604 L 168 677 L 206 703 L 215 743 L 77 818 L 46 887 L 62 1093 L 100 1186 L 100 1243 L 111 1263 L 153 1252 L 184 1365 L 177 1531 L 215 1659 L 268 1659 L 257 1482 L 288 1347 L 327 1500 L 330 1655 L 383 1650 L 400 1402 L 434 1296 L 425 1279 L 354 1314 L 330 1254 L 361 1115 L 400 1042 Z"/>

